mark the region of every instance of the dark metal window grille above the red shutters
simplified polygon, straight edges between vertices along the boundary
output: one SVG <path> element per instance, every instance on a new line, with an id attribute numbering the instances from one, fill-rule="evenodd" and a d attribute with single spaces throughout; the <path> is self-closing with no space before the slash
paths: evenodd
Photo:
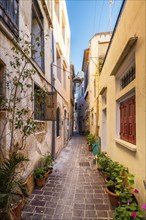
<path id="1" fill-rule="evenodd" d="M 135 66 L 132 66 L 121 79 L 121 89 L 124 89 L 134 79 L 135 79 Z"/>

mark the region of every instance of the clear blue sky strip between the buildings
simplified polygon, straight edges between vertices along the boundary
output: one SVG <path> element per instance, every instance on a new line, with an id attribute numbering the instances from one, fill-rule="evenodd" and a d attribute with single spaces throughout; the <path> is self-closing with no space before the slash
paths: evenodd
<path id="1" fill-rule="evenodd" d="M 112 28 L 114 28 L 123 0 L 113 0 Z M 109 0 L 66 0 L 71 29 L 71 63 L 75 72 L 81 70 L 84 49 L 98 32 L 110 31 Z"/>

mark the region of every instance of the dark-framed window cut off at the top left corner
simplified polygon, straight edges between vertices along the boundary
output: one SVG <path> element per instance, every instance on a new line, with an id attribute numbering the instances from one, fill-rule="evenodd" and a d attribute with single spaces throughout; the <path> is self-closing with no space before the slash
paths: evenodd
<path id="1" fill-rule="evenodd" d="M 0 0 L 0 20 L 18 37 L 18 0 Z"/>

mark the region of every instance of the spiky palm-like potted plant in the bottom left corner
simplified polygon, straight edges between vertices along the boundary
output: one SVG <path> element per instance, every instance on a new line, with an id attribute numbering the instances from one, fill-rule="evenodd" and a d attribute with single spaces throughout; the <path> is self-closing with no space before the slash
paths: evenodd
<path id="1" fill-rule="evenodd" d="M 12 154 L 0 165 L 0 219 L 20 220 L 28 196 L 18 167 L 28 161 L 22 154 Z"/>

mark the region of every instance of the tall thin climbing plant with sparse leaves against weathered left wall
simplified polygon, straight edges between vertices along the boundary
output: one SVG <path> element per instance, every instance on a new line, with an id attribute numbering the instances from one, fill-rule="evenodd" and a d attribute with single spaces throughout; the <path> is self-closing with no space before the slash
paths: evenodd
<path id="1" fill-rule="evenodd" d="M 10 65 L 3 73 L 5 94 L 0 98 L 0 111 L 7 112 L 0 132 L 1 160 L 4 160 L 6 155 L 23 150 L 26 146 L 26 138 L 37 129 L 30 107 L 32 77 L 36 72 L 29 61 L 32 44 L 28 41 L 28 35 L 23 32 L 21 35 L 21 38 L 13 39 L 14 46 L 11 48 L 11 53 L 6 54 Z M 4 141 L 6 137 L 8 137 L 7 148 Z"/>

